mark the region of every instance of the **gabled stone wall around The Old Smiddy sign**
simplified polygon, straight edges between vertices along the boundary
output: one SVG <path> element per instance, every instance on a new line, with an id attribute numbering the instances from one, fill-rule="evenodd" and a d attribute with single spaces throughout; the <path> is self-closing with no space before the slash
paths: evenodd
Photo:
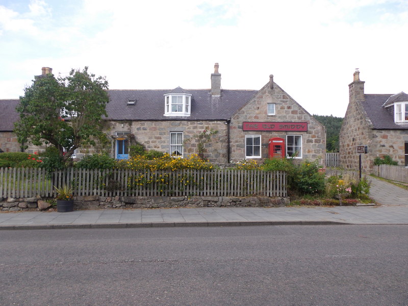
<path id="1" fill-rule="evenodd" d="M 268 115 L 267 104 L 275 104 L 275 115 Z M 242 131 L 242 122 L 308 122 L 307 132 L 268 132 Z M 313 116 L 305 111 L 284 90 L 274 84 L 270 89 L 269 83 L 264 86 L 231 120 L 231 159 L 239 161 L 245 158 L 245 135 L 261 135 L 261 157 L 258 163 L 268 157 L 269 139 L 279 137 L 286 139 L 286 135 L 302 135 L 302 159 L 316 160 L 325 165 L 326 131 L 325 127 Z"/>

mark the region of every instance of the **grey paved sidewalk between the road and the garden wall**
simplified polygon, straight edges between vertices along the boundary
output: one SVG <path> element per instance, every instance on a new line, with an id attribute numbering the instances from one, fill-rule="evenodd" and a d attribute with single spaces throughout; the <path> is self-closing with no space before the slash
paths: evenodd
<path id="1" fill-rule="evenodd" d="M 205 207 L 82 210 L 70 213 L 0 213 L 0 229 L 158 226 L 238 226 L 283 224 L 408 224 L 408 190 L 371 181 L 378 206 L 360 207 Z"/>

